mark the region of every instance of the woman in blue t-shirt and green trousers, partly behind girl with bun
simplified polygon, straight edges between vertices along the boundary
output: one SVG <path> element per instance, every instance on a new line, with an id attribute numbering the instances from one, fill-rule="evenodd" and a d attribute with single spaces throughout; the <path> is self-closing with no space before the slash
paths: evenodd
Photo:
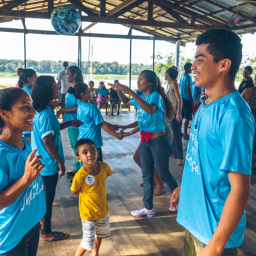
<path id="1" fill-rule="evenodd" d="M 66 70 L 66 78 L 68 83 L 72 83 L 73 86 L 78 83 L 83 83 L 83 74 L 81 69 L 77 66 L 69 66 Z M 72 88 L 72 87 L 71 87 Z M 79 100 L 77 100 L 72 93 L 70 93 L 70 88 L 68 88 L 67 95 L 65 97 L 65 108 L 62 108 L 57 111 L 57 116 L 59 117 L 61 114 L 65 113 L 65 122 L 77 119 L 77 106 L 79 104 Z M 74 150 L 74 154 L 76 156 L 75 145 L 79 135 L 79 131 L 77 127 L 70 126 L 68 127 L 68 136 L 70 140 L 70 145 Z M 80 169 L 80 163 L 77 161 L 75 157 L 74 170 L 71 172 L 67 172 L 68 176 L 74 176 L 76 172 Z"/>

